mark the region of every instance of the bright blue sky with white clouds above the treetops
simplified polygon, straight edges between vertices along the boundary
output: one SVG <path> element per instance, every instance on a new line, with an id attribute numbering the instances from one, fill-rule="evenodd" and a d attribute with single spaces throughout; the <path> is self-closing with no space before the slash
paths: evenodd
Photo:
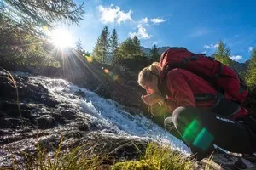
<path id="1" fill-rule="evenodd" d="M 85 0 L 84 20 L 68 30 L 87 51 L 104 26 L 117 30 L 119 42 L 137 35 L 146 48 L 183 46 L 211 55 L 222 40 L 232 59 L 244 62 L 256 47 L 255 7 L 256 1 L 235 0 Z"/>

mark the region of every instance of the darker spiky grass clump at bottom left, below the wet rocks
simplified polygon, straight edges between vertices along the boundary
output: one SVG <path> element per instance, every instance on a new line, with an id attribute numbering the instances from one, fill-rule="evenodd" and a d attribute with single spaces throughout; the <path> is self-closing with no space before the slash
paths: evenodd
<path id="1" fill-rule="evenodd" d="M 26 169 L 38 170 L 71 170 L 86 169 L 93 170 L 101 167 L 107 160 L 107 156 L 93 154 L 92 150 L 96 146 L 91 147 L 90 144 L 77 146 L 70 151 L 61 152 L 61 142 L 54 151 L 54 156 L 49 156 L 46 149 L 40 148 L 38 144 L 38 152 L 36 156 L 26 154 Z"/>

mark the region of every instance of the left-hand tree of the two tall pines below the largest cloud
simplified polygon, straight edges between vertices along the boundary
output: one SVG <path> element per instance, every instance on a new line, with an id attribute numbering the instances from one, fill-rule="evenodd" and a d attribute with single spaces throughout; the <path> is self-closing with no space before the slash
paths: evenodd
<path id="1" fill-rule="evenodd" d="M 102 63 L 108 62 L 109 56 L 109 32 L 108 26 L 105 26 L 102 30 L 100 37 L 98 37 L 96 46 L 93 50 L 93 56 Z"/>

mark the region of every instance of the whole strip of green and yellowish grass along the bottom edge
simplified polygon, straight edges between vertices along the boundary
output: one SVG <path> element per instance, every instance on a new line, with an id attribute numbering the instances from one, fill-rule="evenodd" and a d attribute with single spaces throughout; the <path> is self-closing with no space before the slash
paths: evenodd
<path id="1" fill-rule="evenodd" d="M 65 153 L 61 152 L 61 143 L 54 150 L 54 155 L 49 156 L 44 148 L 38 144 L 37 153 L 32 156 L 26 154 L 26 169 L 38 170 L 168 170 L 168 169 L 195 169 L 195 161 L 185 159 L 177 151 L 169 147 L 150 143 L 138 161 L 115 162 L 113 157 L 108 155 L 96 155 L 93 150 L 97 145 L 84 144 L 71 149 Z M 136 146 L 135 146 L 136 147 Z M 137 149 L 138 150 L 138 149 Z M 142 152 L 141 152 L 142 153 Z M 109 162 L 112 162 L 110 165 Z M 24 169 L 13 164 L 15 169 Z M 19 168 L 20 167 L 20 168 Z"/>

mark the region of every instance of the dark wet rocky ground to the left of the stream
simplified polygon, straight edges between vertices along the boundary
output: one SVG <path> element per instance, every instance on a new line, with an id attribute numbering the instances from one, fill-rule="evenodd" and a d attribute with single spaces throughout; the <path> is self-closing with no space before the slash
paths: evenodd
<path id="1" fill-rule="evenodd" d="M 15 77 L 15 81 L 20 104 L 17 104 L 13 84 L 7 78 L 0 78 L 0 167 L 9 167 L 12 162 L 25 163 L 25 153 L 37 153 L 38 144 L 49 152 L 54 151 L 61 139 L 64 151 L 80 144 L 89 144 L 89 147 L 97 144 L 96 153 L 111 152 L 116 160 L 140 156 L 134 144 L 145 149 L 147 141 L 125 139 L 113 135 L 114 132 L 103 135 L 102 127 L 92 124 L 89 117 L 73 105 L 57 102 L 39 83 L 31 83 L 22 76 Z"/>

